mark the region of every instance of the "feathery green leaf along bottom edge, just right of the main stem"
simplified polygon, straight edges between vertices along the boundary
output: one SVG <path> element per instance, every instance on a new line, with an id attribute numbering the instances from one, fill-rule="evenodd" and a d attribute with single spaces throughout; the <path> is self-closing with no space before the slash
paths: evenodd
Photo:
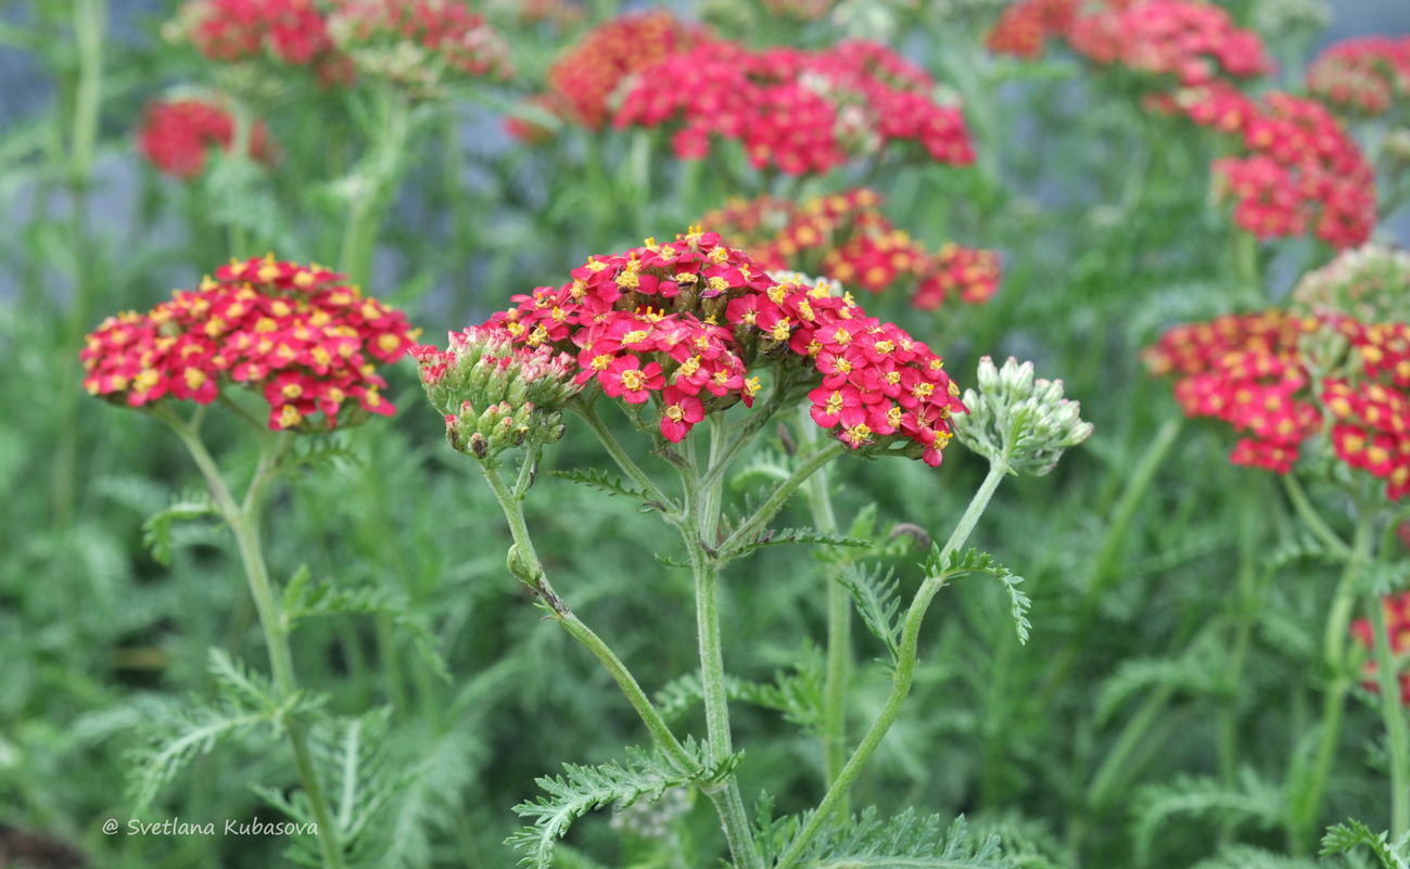
<path id="1" fill-rule="evenodd" d="M 773 820 L 761 801 L 757 842 L 764 865 L 774 865 L 797 838 L 808 815 Z M 964 815 L 943 828 L 939 815 L 914 808 L 878 818 L 876 807 L 835 824 L 808 844 L 799 869 L 1017 869 L 1000 851 L 998 837 L 974 842 Z"/>

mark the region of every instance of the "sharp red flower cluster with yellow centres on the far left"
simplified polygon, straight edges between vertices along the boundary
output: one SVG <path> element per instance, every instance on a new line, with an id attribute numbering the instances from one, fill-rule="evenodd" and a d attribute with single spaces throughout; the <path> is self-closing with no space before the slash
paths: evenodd
<path id="1" fill-rule="evenodd" d="M 89 394 L 130 407 L 210 404 L 238 385 L 269 403 L 269 428 L 336 428 L 352 407 L 391 414 L 376 363 L 412 346 L 406 315 L 320 266 L 231 261 L 197 290 L 107 318 L 79 354 Z"/>

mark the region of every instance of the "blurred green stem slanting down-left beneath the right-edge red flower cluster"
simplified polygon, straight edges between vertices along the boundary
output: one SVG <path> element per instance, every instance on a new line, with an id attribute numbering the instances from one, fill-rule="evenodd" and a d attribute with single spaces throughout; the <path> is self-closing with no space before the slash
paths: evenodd
<path id="1" fill-rule="evenodd" d="M 1348 628 L 1352 610 L 1356 606 L 1356 583 L 1361 582 L 1361 570 L 1371 555 L 1373 515 L 1368 515 L 1368 513 L 1358 511 L 1351 555 L 1337 583 L 1337 593 L 1327 617 L 1327 630 L 1323 635 L 1323 666 L 1331 682 L 1323 697 L 1321 739 L 1313 766 L 1306 773 L 1307 779 L 1296 783 L 1289 806 L 1287 838 L 1293 856 L 1301 856 L 1310 845 L 1316 845 L 1317 814 L 1321 810 L 1323 792 L 1327 789 L 1327 776 L 1331 773 L 1337 741 L 1341 735 L 1342 711 L 1347 706 L 1347 693 L 1351 689 L 1351 677 L 1347 673 Z"/>

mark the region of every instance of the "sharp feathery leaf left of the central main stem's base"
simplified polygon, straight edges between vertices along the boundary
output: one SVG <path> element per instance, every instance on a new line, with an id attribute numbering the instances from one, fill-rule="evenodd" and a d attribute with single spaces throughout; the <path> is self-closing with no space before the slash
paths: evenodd
<path id="1" fill-rule="evenodd" d="M 505 844 L 525 851 L 522 866 L 546 869 L 553 865 L 554 845 L 572 821 L 594 808 L 615 806 L 626 808 L 640 799 L 658 800 L 671 787 L 719 782 L 739 766 L 739 755 L 732 755 L 715 766 L 708 766 L 694 741 L 685 749 L 695 759 L 697 770 L 680 769 L 660 752 L 629 748 L 626 763 L 578 766 L 564 763 L 564 775 L 543 776 L 536 780 L 548 796 L 515 806 L 515 811 L 532 824 L 509 837 Z"/>

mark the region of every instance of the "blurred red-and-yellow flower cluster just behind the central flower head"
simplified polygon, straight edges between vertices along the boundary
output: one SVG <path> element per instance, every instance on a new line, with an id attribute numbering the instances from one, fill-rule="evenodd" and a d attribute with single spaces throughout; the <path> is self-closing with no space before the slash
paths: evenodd
<path id="1" fill-rule="evenodd" d="M 953 244 L 928 251 L 887 220 L 883 201 L 866 187 L 801 204 L 764 196 L 730 201 L 702 224 L 747 246 L 768 269 L 816 272 L 871 293 L 909 286 L 922 310 L 953 299 L 981 304 L 993 297 L 1000 280 L 993 251 Z"/>

